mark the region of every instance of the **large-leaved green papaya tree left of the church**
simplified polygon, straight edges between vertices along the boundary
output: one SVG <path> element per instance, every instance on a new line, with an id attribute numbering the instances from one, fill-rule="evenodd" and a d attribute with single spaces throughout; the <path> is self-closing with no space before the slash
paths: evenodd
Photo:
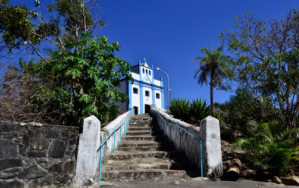
<path id="1" fill-rule="evenodd" d="M 133 81 L 129 74 L 132 66 L 113 54 L 115 43 L 108 43 L 106 37 L 92 37 L 89 33 L 83 33 L 79 41 L 65 46 L 69 50 L 53 52 L 50 63 L 35 70 L 52 71 L 55 75 L 53 84 L 63 83 L 67 86 L 64 90 L 72 95 L 74 117 L 79 119 L 77 121 L 89 115 L 108 120 L 111 114 L 106 113 L 118 112 L 113 109 L 118 107 L 112 105 L 112 100 L 129 102 L 128 96 L 115 87 L 120 87 L 122 77 Z"/>

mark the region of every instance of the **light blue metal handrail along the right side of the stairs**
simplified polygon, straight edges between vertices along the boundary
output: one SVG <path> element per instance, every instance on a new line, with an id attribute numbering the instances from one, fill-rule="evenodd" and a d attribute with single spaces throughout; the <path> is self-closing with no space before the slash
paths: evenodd
<path id="1" fill-rule="evenodd" d="M 153 111 L 152 111 L 152 108 L 150 108 L 150 112 L 152 113 Z M 167 124 L 169 124 L 169 127 L 170 127 L 170 142 L 171 142 L 171 125 L 173 125 L 173 126 L 176 126 L 176 127 L 179 127 L 179 126 L 177 126 L 177 125 L 175 125 L 175 124 L 172 124 L 172 123 L 169 123 L 169 122 L 167 122 L 167 121 L 165 121 L 163 118 L 162 118 L 162 116 L 159 114 L 159 113 L 157 113 L 157 108 L 155 108 L 155 115 L 156 114 L 158 114 L 159 115 L 159 117 L 161 118 L 161 120 L 163 120 L 164 121 L 164 123 L 163 123 L 163 132 L 164 132 L 164 136 L 165 136 L 165 123 L 167 123 Z M 160 122 L 161 120 L 160 120 L 160 118 L 158 118 L 158 125 L 160 126 L 160 124 L 162 124 L 162 122 Z M 191 137 L 193 137 L 196 141 L 199 141 L 199 143 L 200 143 L 200 172 L 201 172 L 201 176 L 202 176 L 202 141 L 200 141 L 199 139 L 197 139 L 195 136 L 193 136 L 192 134 L 190 134 L 190 132 L 188 132 L 187 130 L 184 130 L 183 128 L 181 128 L 181 127 L 179 127 L 179 129 L 180 129 L 180 152 L 181 152 L 181 131 L 183 130 L 184 132 L 187 132 Z M 160 130 L 162 130 L 162 126 L 160 126 Z"/>

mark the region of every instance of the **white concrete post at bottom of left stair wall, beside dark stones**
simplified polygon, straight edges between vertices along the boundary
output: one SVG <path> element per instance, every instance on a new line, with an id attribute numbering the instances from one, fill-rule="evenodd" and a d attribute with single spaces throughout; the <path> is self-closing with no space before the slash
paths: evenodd
<path id="1" fill-rule="evenodd" d="M 83 133 L 79 137 L 73 187 L 94 183 L 100 156 L 100 121 L 94 116 L 84 119 Z"/>

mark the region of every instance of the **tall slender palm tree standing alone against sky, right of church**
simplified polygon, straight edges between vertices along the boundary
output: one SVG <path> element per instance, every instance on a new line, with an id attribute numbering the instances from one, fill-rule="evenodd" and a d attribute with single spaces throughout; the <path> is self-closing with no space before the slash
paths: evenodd
<path id="1" fill-rule="evenodd" d="M 192 62 L 198 62 L 199 66 L 193 72 L 194 79 L 197 79 L 197 83 L 201 86 L 205 83 L 208 86 L 208 79 L 210 78 L 210 95 L 211 95 L 211 108 L 213 110 L 214 103 L 214 87 L 216 84 L 215 78 L 222 77 L 224 70 L 222 68 L 223 63 L 228 61 L 228 57 L 223 55 L 224 46 L 221 45 L 215 50 L 209 50 L 207 47 L 201 47 L 199 49 L 205 56 L 198 56 L 192 60 Z M 212 116 L 214 111 L 212 111 Z"/>

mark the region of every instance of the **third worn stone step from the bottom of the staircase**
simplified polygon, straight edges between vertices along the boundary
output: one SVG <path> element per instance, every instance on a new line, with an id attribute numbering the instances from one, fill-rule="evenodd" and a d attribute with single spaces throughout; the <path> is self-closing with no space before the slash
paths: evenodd
<path id="1" fill-rule="evenodd" d="M 185 158 L 184 152 L 179 151 L 116 151 L 115 154 L 110 154 L 109 159 L 132 159 L 141 157 L 155 157 L 155 158 Z"/>

